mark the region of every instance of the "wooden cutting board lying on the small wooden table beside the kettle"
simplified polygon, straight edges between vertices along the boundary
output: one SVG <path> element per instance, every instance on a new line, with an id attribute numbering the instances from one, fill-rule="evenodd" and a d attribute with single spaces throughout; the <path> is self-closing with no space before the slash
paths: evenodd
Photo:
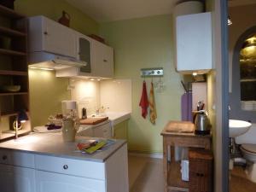
<path id="1" fill-rule="evenodd" d="M 194 132 L 195 125 L 190 121 L 170 121 L 166 125 L 167 132 L 183 132 L 190 133 Z"/>

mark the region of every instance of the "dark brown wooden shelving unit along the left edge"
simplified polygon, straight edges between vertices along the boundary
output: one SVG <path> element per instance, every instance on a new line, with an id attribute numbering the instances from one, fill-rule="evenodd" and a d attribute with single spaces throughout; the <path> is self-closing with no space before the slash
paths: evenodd
<path id="1" fill-rule="evenodd" d="M 25 15 L 2 5 L 0 5 L 0 20 L 0 86 L 20 85 L 18 92 L 0 92 L 1 118 L 10 120 L 20 110 L 29 113 L 27 20 Z M 6 127 L 4 130 L 7 130 Z M 19 131 L 19 135 L 29 131 L 24 128 Z M 3 131 L 0 142 L 13 137 L 15 137 L 14 131 Z"/>

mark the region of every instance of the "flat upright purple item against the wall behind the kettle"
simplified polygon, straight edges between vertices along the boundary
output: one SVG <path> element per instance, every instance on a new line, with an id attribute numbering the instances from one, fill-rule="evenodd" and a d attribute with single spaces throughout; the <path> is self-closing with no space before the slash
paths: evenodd
<path id="1" fill-rule="evenodd" d="M 182 120 L 193 121 L 192 119 L 192 92 L 186 92 L 181 98 Z"/>

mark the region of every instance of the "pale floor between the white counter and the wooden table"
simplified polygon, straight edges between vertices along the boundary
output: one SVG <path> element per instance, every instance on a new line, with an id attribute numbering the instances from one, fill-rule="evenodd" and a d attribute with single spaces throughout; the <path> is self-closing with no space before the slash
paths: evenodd
<path id="1" fill-rule="evenodd" d="M 130 192 L 163 192 L 164 175 L 161 159 L 129 155 Z"/>

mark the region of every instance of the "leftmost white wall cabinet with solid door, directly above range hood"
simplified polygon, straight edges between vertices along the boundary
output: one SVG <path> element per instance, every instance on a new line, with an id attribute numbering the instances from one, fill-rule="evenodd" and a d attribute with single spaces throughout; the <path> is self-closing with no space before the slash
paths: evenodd
<path id="1" fill-rule="evenodd" d="M 76 32 L 44 16 L 29 18 L 29 51 L 76 57 Z"/>

